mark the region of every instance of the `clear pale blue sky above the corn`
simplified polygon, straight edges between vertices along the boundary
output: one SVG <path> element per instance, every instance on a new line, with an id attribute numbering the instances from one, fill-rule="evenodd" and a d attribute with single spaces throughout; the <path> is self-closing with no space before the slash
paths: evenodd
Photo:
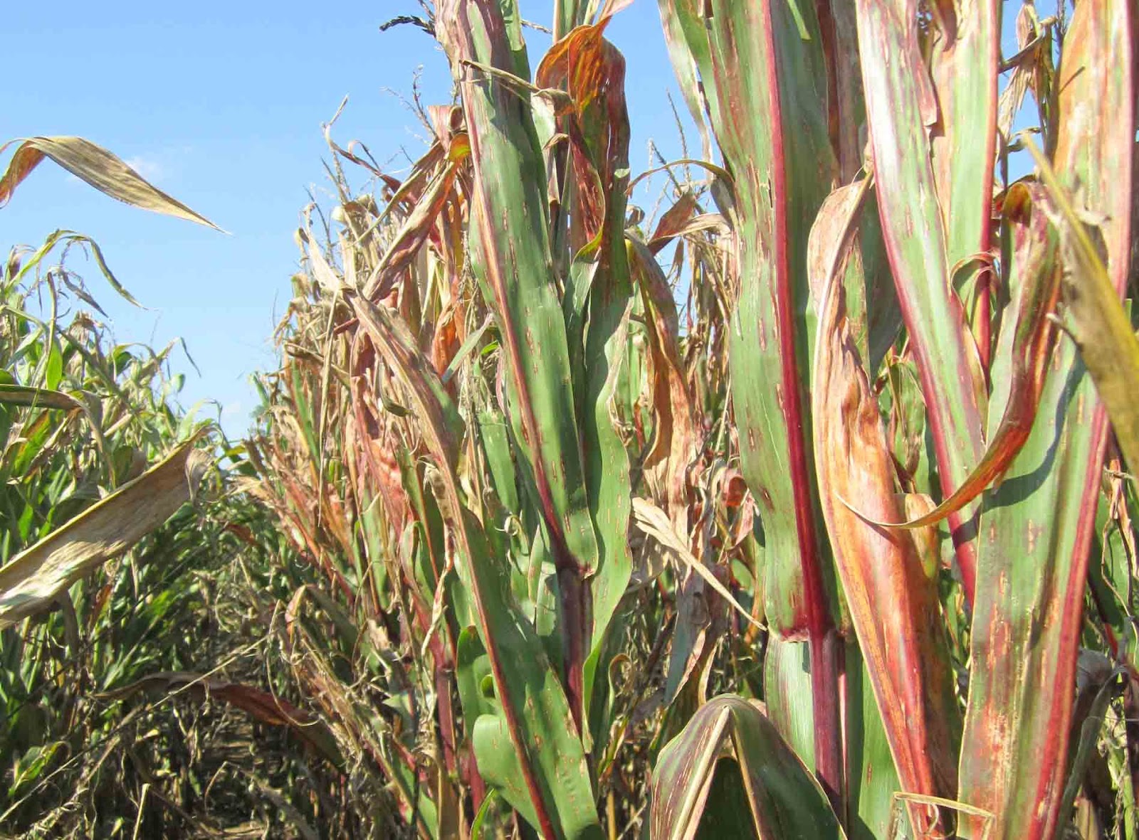
<path id="1" fill-rule="evenodd" d="M 551 0 L 522 0 L 523 16 L 539 23 L 549 23 L 551 8 Z M 1008 5 L 1006 31 L 1016 8 Z M 321 124 L 350 97 L 336 139 L 362 140 L 399 176 L 405 155 L 424 146 L 392 91 L 409 94 L 421 67 L 424 100 L 450 100 L 445 59 L 428 35 L 411 26 L 379 32 L 402 14 L 420 9 L 409 0 L 323 10 L 292 0 L 9 3 L 0 140 L 85 137 L 229 234 L 125 207 L 46 163 L 0 209 L 0 248 L 38 245 L 57 228 L 95 238 L 148 307 L 118 300 L 93 264 L 71 263 L 110 314 L 117 340 L 164 346 L 183 337 L 202 374 L 175 356 L 174 369 L 187 374 L 182 403 L 214 400 L 227 431 L 244 434 L 254 407 L 248 374 L 274 367 L 269 337 L 297 266 L 298 213 L 308 190 L 328 198 Z M 655 0 L 636 0 L 608 35 L 628 59 L 636 174 L 652 165 L 650 138 L 665 157 L 680 156 L 669 93 L 678 108 L 683 102 Z M 536 67 L 549 38 L 532 30 L 526 38 Z M 698 154 L 697 138 L 689 141 Z M 633 200 L 650 207 L 654 198 L 639 187 Z"/>

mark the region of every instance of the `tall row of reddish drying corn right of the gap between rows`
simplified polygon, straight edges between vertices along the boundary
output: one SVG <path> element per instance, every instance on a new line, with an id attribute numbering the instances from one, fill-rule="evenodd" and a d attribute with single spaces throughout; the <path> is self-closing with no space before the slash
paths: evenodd
<path id="1" fill-rule="evenodd" d="M 441 0 L 298 232 L 249 488 L 374 830 L 1133 838 L 1132 5 L 662 0 L 652 223 L 618 6 Z"/>

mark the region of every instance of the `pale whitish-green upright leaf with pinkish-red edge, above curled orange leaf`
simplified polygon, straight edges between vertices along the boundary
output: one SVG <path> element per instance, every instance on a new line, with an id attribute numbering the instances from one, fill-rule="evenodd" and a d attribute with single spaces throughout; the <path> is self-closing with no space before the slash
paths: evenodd
<path id="1" fill-rule="evenodd" d="M 948 496 L 965 483 L 984 454 L 986 395 L 981 357 L 951 283 L 953 262 L 945 231 L 949 197 L 939 193 L 931 160 L 929 129 L 940 115 L 937 91 L 921 55 L 913 0 L 858 0 L 857 11 L 883 236 L 918 364 L 941 488 Z M 891 60 L 883 60 L 883 55 Z M 973 141 L 989 142 L 972 135 L 959 140 Z M 973 172 L 988 167 L 984 164 Z M 976 181 L 984 178 L 982 174 Z M 984 200 L 988 203 L 988 197 Z M 982 213 L 988 220 L 986 207 L 970 206 L 962 212 Z M 949 522 L 957 530 L 968 519 L 967 512 L 954 513 Z M 969 596 L 975 555 L 974 544 L 961 534 L 958 561 Z"/>

